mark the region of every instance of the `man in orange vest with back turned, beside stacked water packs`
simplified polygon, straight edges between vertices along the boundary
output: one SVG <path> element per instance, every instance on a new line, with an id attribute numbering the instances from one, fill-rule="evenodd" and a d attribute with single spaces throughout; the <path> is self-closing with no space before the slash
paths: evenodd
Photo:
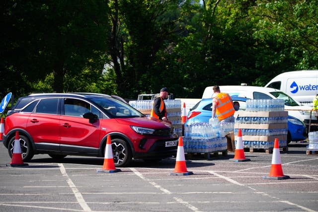
<path id="1" fill-rule="evenodd" d="M 220 123 L 233 123 L 234 106 L 231 96 L 228 93 L 221 93 L 218 85 L 213 86 L 212 118 L 217 115 Z"/>

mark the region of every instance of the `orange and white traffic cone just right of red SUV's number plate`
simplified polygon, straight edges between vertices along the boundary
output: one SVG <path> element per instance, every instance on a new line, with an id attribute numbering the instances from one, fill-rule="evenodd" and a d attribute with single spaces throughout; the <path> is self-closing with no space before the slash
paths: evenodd
<path id="1" fill-rule="evenodd" d="M 193 174 L 193 172 L 188 171 L 185 165 L 183 139 L 182 137 L 179 137 L 177 157 L 175 159 L 175 167 L 174 167 L 174 171 L 170 173 L 170 175 L 191 175 L 191 174 Z"/>

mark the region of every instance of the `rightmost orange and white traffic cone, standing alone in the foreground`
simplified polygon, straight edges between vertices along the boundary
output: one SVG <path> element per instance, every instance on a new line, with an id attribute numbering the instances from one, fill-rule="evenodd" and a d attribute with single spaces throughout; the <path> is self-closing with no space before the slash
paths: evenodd
<path id="1" fill-rule="evenodd" d="M 274 179 L 274 180 L 283 180 L 289 179 L 290 177 L 283 174 L 282 162 L 280 160 L 279 153 L 279 143 L 278 139 L 274 140 L 274 149 L 272 157 L 272 166 L 270 167 L 270 172 L 268 176 L 264 176 L 263 179 Z"/>

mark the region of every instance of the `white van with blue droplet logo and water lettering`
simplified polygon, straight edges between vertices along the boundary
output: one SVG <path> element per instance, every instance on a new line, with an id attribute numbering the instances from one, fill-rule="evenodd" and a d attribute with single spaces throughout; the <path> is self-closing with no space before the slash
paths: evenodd
<path id="1" fill-rule="evenodd" d="M 284 91 L 300 103 L 312 106 L 318 92 L 318 70 L 284 72 L 275 76 L 265 87 Z"/>

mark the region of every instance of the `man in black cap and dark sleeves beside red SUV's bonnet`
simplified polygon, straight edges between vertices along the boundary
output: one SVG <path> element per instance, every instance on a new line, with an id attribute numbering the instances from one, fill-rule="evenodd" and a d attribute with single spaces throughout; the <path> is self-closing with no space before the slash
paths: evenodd
<path id="1" fill-rule="evenodd" d="M 153 109 L 150 113 L 151 118 L 168 121 L 167 110 L 163 101 L 168 98 L 168 94 L 168 89 L 166 87 L 161 88 L 160 95 L 154 100 Z"/>

